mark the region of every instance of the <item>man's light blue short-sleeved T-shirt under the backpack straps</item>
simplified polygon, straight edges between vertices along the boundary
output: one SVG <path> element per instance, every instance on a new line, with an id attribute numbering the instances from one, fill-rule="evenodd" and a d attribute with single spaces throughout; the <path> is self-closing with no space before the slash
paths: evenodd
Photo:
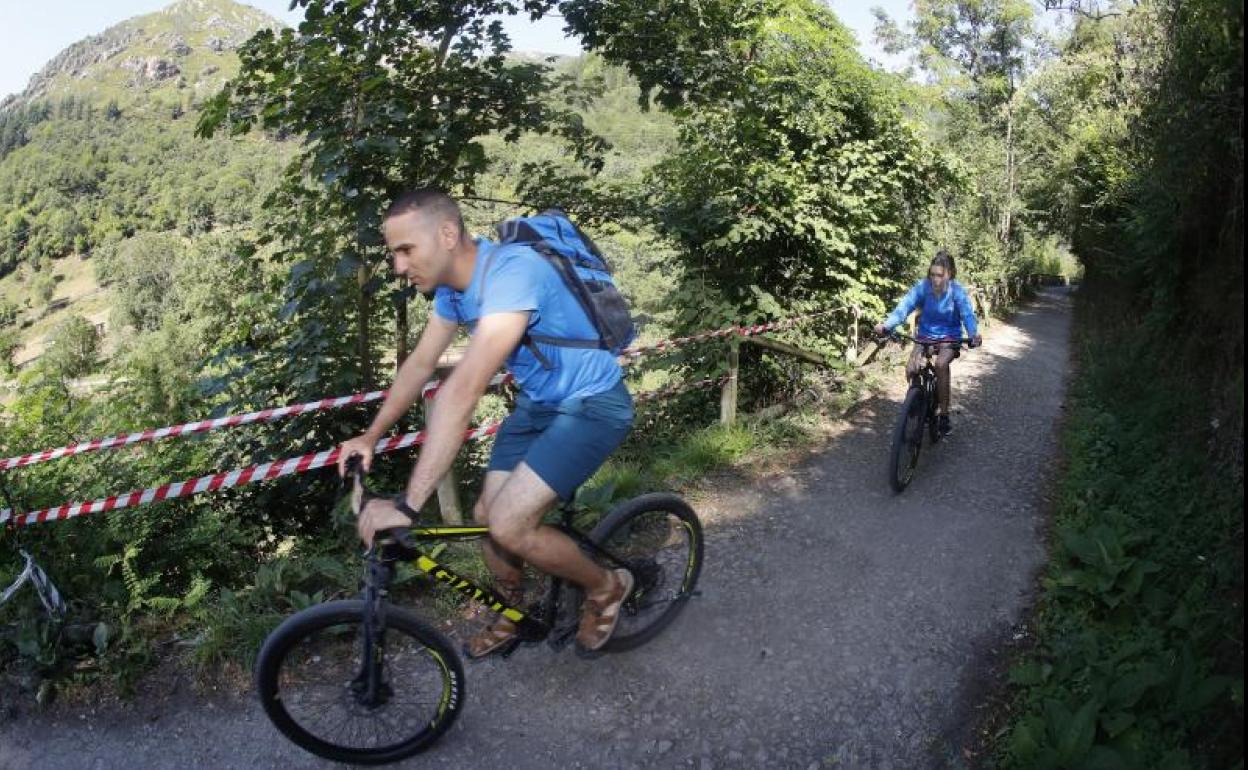
<path id="1" fill-rule="evenodd" d="M 469 333 L 477 331 L 483 316 L 517 311 L 529 312 L 530 334 L 598 338 L 593 322 L 559 273 L 528 246 L 499 246 L 478 238 L 477 265 L 468 288 L 461 292 L 439 286 L 433 297 L 433 312 L 452 323 L 467 324 Z M 623 377 L 609 351 L 535 344 L 550 362 L 549 369 L 523 344 L 507 358 L 507 368 L 533 401 L 550 403 L 605 393 Z"/>

